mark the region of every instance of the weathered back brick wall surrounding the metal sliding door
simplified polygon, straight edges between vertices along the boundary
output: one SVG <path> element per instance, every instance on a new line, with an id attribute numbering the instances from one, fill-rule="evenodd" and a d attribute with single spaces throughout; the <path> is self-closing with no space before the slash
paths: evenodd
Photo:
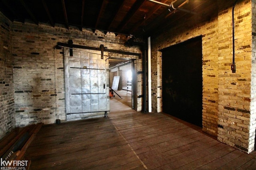
<path id="1" fill-rule="evenodd" d="M 64 62 L 62 50 L 54 50 L 57 42 L 67 43 L 72 39 L 73 43 L 78 45 L 100 47 L 103 44 L 108 49 L 141 53 L 138 47 L 124 46 L 125 36 L 115 36 L 114 33 L 105 35 L 97 30 L 93 33 L 87 29 L 80 31 L 75 27 L 65 29 L 56 25 L 52 28 L 43 24 L 14 22 L 12 33 L 15 115 L 18 127 L 38 122 L 54 123 L 57 114 L 62 121 L 66 119 Z M 120 58 L 134 57 L 111 55 Z M 140 84 L 138 87 L 141 89 Z M 141 109 L 140 106 L 141 104 L 138 104 L 138 110 Z"/>

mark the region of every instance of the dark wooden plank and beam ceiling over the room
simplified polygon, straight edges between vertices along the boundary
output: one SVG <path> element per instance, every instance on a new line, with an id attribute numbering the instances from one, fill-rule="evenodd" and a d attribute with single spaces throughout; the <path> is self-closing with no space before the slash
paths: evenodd
<path id="1" fill-rule="evenodd" d="M 158 1 L 165 4 L 176 1 L 180 5 L 186 0 Z M 217 0 L 187 2 L 180 8 L 197 12 L 200 20 L 217 14 Z M 80 30 L 90 28 L 142 37 L 173 26 L 180 18 L 186 21 L 193 16 L 178 10 L 170 12 L 168 6 L 149 0 L 0 0 L 0 11 L 11 21 L 48 23 L 52 27 L 62 24 L 67 29 L 76 26 Z"/>

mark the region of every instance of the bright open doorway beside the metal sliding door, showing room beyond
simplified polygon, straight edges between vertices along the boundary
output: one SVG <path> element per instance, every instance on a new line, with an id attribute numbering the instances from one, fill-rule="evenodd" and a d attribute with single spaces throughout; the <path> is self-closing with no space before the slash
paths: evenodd
<path id="1" fill-rule="evenodd" d="M 110 112 L 134 109 L 134 60 L 109 60 Z"/>

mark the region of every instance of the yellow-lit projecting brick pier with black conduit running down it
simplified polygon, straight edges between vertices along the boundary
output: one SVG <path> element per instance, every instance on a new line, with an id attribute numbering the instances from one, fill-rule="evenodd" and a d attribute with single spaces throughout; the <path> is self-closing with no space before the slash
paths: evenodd
<path id="1" fill-rule="evenodd" d="M 219 107 L 218 140 L 246 152 L 254 150 L 255 126 L 250 114 L 250 82 L 252 64 L 252 13 L 250 1 L 236 5 L 235 19 L 235 63 L 236 73 L 230 71 L 232 63 L 232 8 L 219 13 Z M 254 120 L 255 121 L 255 118 Z M 253 138 L 253 140 L 252 140 Z"/>

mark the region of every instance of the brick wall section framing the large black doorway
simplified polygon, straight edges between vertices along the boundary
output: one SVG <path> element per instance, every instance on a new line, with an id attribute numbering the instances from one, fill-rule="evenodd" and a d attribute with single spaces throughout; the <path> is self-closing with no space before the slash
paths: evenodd
<path id="1" fill-rule="evenodd" d="M 187 28 L 187 29 L 186 29 Z M 179 30 L 179 31 L 177 31 Z M 203 130 L 217 135 L 218 125 L 218 19 L 200 24 L 200 27 L 180 25 L 152 37 L 152 109 L 162 111 L 162 54 L 161 49 L 202 35 L 203 74 Z M 163 41 L 164 39 L 164 41 Z"/>

